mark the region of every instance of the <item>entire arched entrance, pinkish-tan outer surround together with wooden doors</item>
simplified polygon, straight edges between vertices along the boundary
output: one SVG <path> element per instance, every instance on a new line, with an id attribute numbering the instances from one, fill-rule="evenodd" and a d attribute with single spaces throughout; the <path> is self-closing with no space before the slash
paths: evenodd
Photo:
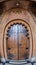
<path id="1" fill-rule="evenodd" d="M 31 58 L 34 55 L 35 24 L 30 13 L 22 8 L 13 8 L 3 15 L 2 24 L 2 56 L 10 60 Z"/>

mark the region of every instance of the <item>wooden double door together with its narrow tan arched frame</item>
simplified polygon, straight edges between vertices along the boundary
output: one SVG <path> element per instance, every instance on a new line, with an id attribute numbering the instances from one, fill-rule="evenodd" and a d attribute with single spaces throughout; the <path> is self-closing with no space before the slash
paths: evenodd
<path id="1" fill-rule="evenodd" d="M 30 28 L 25 21 L 16 19 L 8 23 L 4 33 L 7 58 L 11 60 L 24 60 L 30 54 Z"/>

